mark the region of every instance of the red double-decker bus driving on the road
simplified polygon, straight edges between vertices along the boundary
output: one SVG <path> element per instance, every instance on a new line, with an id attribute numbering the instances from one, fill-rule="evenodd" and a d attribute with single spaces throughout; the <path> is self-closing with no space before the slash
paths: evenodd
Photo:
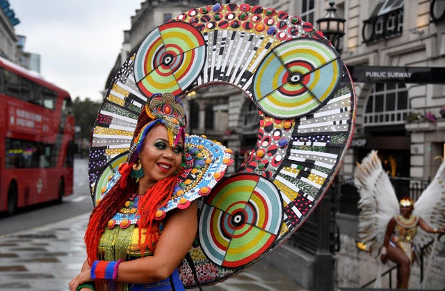
<path id="1" fill-rule="evenodd" d="M 0 58 L 0 212 L 73 191 L 74 117 L 67 91 Z"/>

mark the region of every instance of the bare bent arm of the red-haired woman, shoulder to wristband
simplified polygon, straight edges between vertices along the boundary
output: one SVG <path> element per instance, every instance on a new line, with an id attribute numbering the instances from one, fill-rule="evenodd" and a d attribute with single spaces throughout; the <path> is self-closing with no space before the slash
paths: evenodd
<path id="1" fill-rule="evenodd" d="M 121 262 L 116 281 L 153 283 L 168 278 L 190 250 L 197 231 L 197 204 L 168 213 L 152 256 Z"/>

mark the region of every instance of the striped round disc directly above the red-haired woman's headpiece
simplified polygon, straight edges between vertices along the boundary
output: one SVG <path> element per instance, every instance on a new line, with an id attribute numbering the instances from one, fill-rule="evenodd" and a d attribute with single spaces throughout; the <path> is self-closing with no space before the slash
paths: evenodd
<path id="1" fill-rule="evenodd" d="M 171 22 L 159 26 L 142 42 L 134 61 L 140 91 L 179 95 L 195 81 L 205 61 L 204 38 L 193 26 Z"/>

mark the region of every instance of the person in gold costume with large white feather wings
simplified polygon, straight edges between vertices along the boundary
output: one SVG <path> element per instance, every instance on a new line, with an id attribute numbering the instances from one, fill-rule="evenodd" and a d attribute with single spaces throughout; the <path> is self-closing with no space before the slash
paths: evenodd
<path id="1" fill-rule="evenodd" d="M 374 257 L 380 254 L 382 262 L 395 262 L 397 288 L 408 288 L 411 265 L 421 247 L 434 239 L 433 233 L 444 232 L 445 162 L 415 203 L 411 198 L 398 201 L 375 150 L 357 164 L 354 183 L 360 195 L 359 241 Z M 430 251 L 431 247 L 426 253 Z"/>

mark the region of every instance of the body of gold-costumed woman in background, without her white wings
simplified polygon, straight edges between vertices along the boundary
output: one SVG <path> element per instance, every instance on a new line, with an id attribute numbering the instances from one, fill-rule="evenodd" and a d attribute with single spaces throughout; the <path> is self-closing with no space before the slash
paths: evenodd
<path id="1" fill-rule="evenodd" d="M 420 226 L 427 233 L 443 233 L 445 229 L 431 228 L 421 217 L 412 215 L 414 200 L 411 198 L 403 198 L 399 204 L 401 212 L 388 223 L 380 260 L 386 263 L 389 259 L 396 263 L 397 288 L 403 289 L 408 288 L 410 281 L 414 261 L 413 239 L 417 234 L 417 227 Z"/>

